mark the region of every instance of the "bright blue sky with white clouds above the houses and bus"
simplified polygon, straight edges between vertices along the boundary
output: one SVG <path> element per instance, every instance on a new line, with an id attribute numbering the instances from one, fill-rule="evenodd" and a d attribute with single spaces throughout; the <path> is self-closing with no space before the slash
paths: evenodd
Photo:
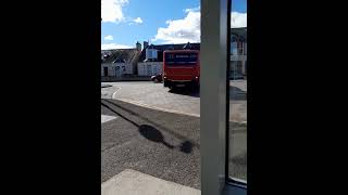
<path id="1" fill-rule="evenodd" d="M 232 26 L 247 26 L 247 0 L 232 0 Z M 101 0 L 101 48 L 200 41 L 200 0 Z"/>

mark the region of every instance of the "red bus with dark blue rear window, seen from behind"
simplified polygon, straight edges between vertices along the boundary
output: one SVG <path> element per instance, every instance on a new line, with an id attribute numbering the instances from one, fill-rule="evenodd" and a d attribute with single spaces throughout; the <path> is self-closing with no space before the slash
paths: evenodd
<path id="1" fill-rule="evenodd" d="M 199 50 L 166 50 L 163 52 L 163 86 L 199 88 Z"/>

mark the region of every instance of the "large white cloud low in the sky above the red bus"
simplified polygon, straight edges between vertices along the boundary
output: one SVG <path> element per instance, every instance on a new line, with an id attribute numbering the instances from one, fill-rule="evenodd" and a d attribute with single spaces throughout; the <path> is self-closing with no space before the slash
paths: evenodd
<path id="1" fill-rule="evenodd" d="M 200 8 L 184 10 L 187 15 L 182 20 L 169 20 L 166 27 L 158 28 L 152 41 L 161 43 L 200 42 Z M 246 27 L 247 13 L 232 12 L 231 27 Z"/>

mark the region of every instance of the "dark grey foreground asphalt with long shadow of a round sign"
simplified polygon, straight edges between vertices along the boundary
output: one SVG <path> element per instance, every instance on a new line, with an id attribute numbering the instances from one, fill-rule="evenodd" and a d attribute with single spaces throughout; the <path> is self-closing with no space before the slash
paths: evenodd
<path id="1" fill-rule="evenodd" d="M 101 114 L 116 116 L 101 128 L 101 182 L 124 169 L 200 188 L 198 117 L 149 109 L 116 100 L 101 100 Z M 232 123 L 233 173 L 246 178 L 245 127 Z"/>

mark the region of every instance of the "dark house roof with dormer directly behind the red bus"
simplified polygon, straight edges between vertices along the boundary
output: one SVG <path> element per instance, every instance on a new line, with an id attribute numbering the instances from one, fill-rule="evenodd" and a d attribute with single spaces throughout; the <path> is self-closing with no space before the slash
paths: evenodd
<path id="1" fill-rule="evenodd" d="M 163 51 L 164 50 L 183 50 L 184 47 L 187 43 L 182 43 L 182 44 L 150 44 L 147 48 L 152 48 L 152 49 L 157 49 L 157 61 L 156 62 L 163 62 Z M 189 43 L 190 44 L 190 49 L 191 50 L 200 50 L 200 43 Z M 141 51 L 140 57 L 139 57 L 139 62 L 145 62 L 146 60 L 146 49 L 145 48 Z"/>

